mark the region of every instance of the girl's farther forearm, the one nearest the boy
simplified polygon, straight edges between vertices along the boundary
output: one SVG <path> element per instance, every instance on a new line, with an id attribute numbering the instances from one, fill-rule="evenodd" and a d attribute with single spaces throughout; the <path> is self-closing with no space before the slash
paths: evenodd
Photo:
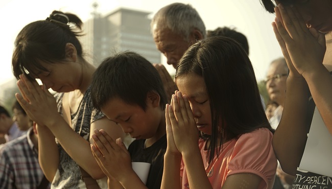
<path id="1" fill-rule="evenodd" d="M 161 189 L 180 189 L 180 166 L 181 166 L 180 154 L 172 154 L 166 152 L 164 155 L 164 167 L 161 180 Z"/>

